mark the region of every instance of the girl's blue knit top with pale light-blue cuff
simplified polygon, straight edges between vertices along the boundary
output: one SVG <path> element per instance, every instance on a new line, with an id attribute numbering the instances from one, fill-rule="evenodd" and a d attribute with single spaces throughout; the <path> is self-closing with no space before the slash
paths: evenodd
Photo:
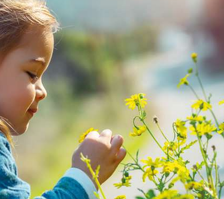
<path id="1" fill-rule="evenodd" d="M 35 199 L 96 199 L 95 186 L 81 170 L 71 168 L 52 190 L 45 191 Z M 0 199 L 28 199 L 30 185 L 18 177 L 11 146 L 0 132 Z"/>

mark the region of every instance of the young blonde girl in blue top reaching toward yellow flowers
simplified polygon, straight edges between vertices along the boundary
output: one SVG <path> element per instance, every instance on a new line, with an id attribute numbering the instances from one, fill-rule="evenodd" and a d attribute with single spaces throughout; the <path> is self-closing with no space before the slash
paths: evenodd
<path id="1" fill-rule="evenodd" d="M 11 153 L 12 136 L 26 132 L 47 92 L 42 84 L 53 53 L 56 19 L 39 0 L 0 1 L 0 198 L 26 199 L 30 186 L 19 178 Z M 125 157 L 121 136 L 91 132 L 74 151 L 71 168 L 55 187 L 36 198 L 91 199 L 96 186 L 80 153 L 101 166 L 107 180 Z M 11 145 L 10 145 L 11 144 Z"/>

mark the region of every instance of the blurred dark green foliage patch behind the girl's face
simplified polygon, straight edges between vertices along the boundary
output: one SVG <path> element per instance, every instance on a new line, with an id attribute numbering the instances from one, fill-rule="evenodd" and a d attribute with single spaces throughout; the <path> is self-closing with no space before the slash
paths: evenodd
<path id="1" fill-rule="evenodd" d="M 67 69 L 64 74 L 74 93 L 107 92 L 112 82 L 122 81 L 122 62 L 156 49 L 156 35 L 150 26 L 122 34 L 61 31 L 56 34 L 52 66 Z M 58 61 L 61 58 L 67 66 Z"/>

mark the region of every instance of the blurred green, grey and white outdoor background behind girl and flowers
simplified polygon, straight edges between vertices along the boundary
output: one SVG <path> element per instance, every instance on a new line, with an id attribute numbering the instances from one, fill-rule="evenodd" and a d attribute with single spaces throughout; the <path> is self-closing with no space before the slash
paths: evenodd
<path id="1" fill-rule="evenodd" d="M 122 134 L 129 152 L 140 157 L 160 155 L 149 135 L 129 138 L 132 119 L 124 99 L 146 93 L 147 122 L 172 136 L 172 122 L 191 113 L 194 95 L 177 89 L 179 79 L 193 67 L 191 53 L 198 53 L 199 71 L 219 121 L 224 108 L 224 1 L 223 0 L 47 0 L 61 24 L 55 51 L 44 76 L 48 97 L 30 123 L 29 130 L 14 137 L 19 176 L 31 184 L 32 196 L 52 189 L 71 166 L 79 135 L 88 128 L 110 128 Z M 200 93 L 194 78 L 190 83 Z M 201 95 L 202 96 L 202 95 Z M 217 150 L 223 140 L 217 137 Z M 161 140 L 163 142 L 164 140 Z M 220 144 L 219 144 L 220 143 Z M 187 157 L 198 159 L 192 153 Z M 124 162 L 130 161 L 127 156 Z M 223 173 L 224 158 L 218 159 Z M 117 172 L 103 185 L 108 199 L 141 195 L 149 184 L 133 179 L 131 188 L 117 190 Z M 145 188 L 146 187 L 146 188 Z"/>

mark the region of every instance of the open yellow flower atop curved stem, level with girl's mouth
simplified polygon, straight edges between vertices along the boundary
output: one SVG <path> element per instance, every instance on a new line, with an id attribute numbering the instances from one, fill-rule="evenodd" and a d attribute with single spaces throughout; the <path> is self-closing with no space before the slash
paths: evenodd
<path id="1" fill-rule="evenodd" d="M 136 106 L 144 108 L 145 105 L 147 104 L 146 102 L 147 99 L 144 98 L 144 96 L 145 96 L 144 93 L 132 95 L 131 98 L 125 100 L 126 101 L 125 105 L 129 106 L 129 108 L 132 110 L 134 110 Z"/>

